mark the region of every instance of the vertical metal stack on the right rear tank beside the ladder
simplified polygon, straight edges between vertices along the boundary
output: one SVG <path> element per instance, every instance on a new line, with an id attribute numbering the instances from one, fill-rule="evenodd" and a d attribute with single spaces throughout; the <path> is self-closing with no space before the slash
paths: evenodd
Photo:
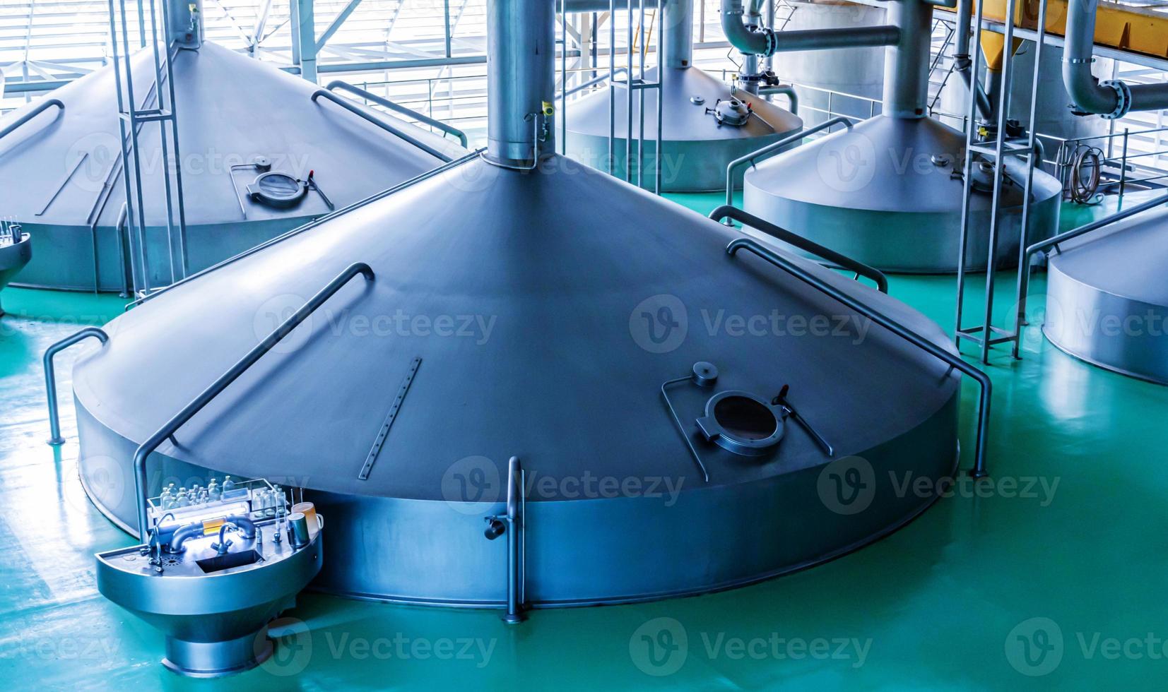
<path id="1" fill-rule="evenodd" d="M 885 49 L 884 114 L 924 118 L 929 103 L 933 6 L 924 0 L 890 2 L 888 18 L 889 23 L 901 28 L 901 36 L 896 44 Z"/>

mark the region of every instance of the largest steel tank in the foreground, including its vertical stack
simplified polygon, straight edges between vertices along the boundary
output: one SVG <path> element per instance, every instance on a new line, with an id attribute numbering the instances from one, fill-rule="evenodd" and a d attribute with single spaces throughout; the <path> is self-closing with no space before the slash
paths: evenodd
<path id="1" fill-rule="evenodd" d="M 843 554 L 936 499 L 897 483 L 954 473 L 951 340 L 760 236 L 566 165 L 526 119 L 555 88 L 554 15 L 552 0 L 487 5 L 485 155 L 161 292 L 79 347 L 82 477 L 104 512 L 135 530 L 135 447 L 339 278 L 145 467 L 151 491 L 206 469 L 305 488 L 329 522 L 317 588 L 498 607 L 516 562 L 489 538 L 519 530 L 529 604 L 702 593 Z M 510 457 L 522 522 L 496 531 Z"/>

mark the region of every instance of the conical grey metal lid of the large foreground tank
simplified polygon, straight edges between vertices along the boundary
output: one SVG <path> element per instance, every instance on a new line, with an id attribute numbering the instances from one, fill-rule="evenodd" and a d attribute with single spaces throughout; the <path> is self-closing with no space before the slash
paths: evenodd
<path id="1" fill-rule="evenodd" d="M 526 173 L 477 159 L 119 316 L 74 386 L 88 414 L 140 442 L 367 263 L 373 280 L 353 279 L 159 452 L 345 494 L 442 499 L 458 460 L 510 455 L 556 478 L 670 477 L 688 490 L 708 485 L 686 439 L 711 391 L 672 394 L 682 432 L 662 385 L 689 383 L 697 362 L 718 369 L 717 390 L 770 401 L 790 385 L 837 456 L 931 420 L 952 429 L 955 372 L 759 258 L 729 256 L 737 237 L 561 156 Z M 903 303 L 793 261 L 952 349 Z M 952 459 L 954 442 L 920 438 L 918 452 Z M 794 427 L 766 459 L 701 453 L 709 484 L 829 461 Z"/>

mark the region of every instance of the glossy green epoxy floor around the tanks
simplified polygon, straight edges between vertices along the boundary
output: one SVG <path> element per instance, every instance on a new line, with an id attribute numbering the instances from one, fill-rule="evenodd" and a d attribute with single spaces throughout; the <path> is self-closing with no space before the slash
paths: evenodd
<path id="1" fill-rule="evenodd" d="M 703 212 L 718 204 L 680 201 Z M 1100 212 L 1071 211 L 1064 225 Z M 1034 292 L 1042 285 L 1040 277 Z M 950 329 L 953 288 L 950 277 L 891 282 L 894 295 Z M 999 288 L 1004 315 L 1011 277 Z M 123 302 L 4 293 L 0 680 L 8 688 L 1162 688 L 1168 679 L 1168 387 L 1075 361 L 1036 329 L 1021 362 L 995 351 L 987 369 L 992 480 L 978 491 L 959 485 L 848 557 L 708 596 L 536 611 L 513 629 L 492 611 L 305 594 L 288 613 L 294 620 L 274 630 L 285 645 L 271 663 L 225 680 L 179 678 L 158 663 L 161 636 L 93 582 L 92 553 L 133 541 L 77 480 L 75 352 L 58 364 L 69 442 L 44 445 L 43 349 L 81 323 L 103 323 Z M 974 396 L 967 384 L 965 467 Z M 669 644 L 670 635 L 688 645 L 646 655 L 642 636 Z"/>

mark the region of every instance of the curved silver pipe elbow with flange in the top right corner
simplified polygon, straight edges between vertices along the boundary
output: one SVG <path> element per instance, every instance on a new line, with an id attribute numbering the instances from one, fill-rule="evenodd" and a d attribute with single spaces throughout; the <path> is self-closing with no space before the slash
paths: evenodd
<path id="1" fill-rule="evenodd" d="M 1131 111 L 1168 109 L 1168 84 L 1128 84 L 1119 79 L 1100 83 L 1091 74 L 1094 62 L 1094 22 L 1099 0 L 1071 0 L 1066 12 L 1063 84 L 1075 106 L 1107 119 Z"/>

